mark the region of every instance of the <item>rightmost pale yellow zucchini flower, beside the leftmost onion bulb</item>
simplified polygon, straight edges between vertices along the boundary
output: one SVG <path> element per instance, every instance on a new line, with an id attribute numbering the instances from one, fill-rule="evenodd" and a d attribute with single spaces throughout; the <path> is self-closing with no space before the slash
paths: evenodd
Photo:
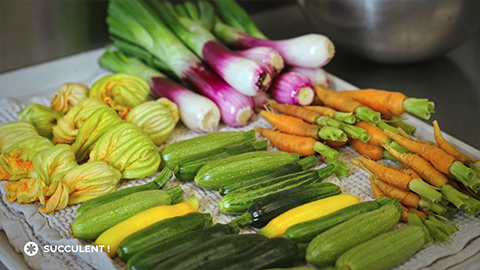
<path id="1" fill-rule="evenodd" d="M 157 146 L 165 142 L 175 129 L 175 120 L 170 110 L 156 101 L 135 106 L 125 120 L 145 130 Z"/>

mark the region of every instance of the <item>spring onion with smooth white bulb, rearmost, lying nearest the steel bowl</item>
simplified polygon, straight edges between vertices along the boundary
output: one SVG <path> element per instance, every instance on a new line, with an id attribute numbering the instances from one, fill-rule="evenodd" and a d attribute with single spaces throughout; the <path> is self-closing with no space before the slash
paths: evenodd
<path id="1" fill-rule="evenodd" d="M 280 52 L 285 64 L 310 68 L 326 65 L 335 54 L 333 43 L 324 35 L 307 34 L 291 39 L 268 40 L 235 1 L 215 0 L 215 5 L 221 19 L 217 18 L 212 32 L 228 46 L 237 49 L 272 47 Z M 242 28 L 243 31 L 240 30 Z"/>

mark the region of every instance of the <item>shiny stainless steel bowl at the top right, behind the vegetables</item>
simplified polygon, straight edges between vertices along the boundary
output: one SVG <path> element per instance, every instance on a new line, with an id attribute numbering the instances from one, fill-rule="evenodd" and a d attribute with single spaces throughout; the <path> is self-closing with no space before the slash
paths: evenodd
<path id="1" fill-rule="evenodd" d="M 339 50 L 390 64 L 432 59 L 479 28 L 478 0 L 298 0 Z"/>

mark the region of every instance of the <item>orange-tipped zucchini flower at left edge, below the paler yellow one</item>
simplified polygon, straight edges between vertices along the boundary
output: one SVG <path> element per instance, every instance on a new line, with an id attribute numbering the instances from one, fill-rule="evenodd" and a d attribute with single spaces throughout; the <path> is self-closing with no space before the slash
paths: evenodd
<path id="1" fill-rule="evenodd" d="M 0 155 L 0 168 L 3 168 L 8 174 L 4 175 L 2 169 L 0 169 L 0 180 L 18 180 L 27 177 L 28 173 L 33 170 L 35 153 L 52 147 L 53 143 L 50 140 L 36 135 L 5 149 Z M 8 175 L 10 176 L 7 177 Z"/>

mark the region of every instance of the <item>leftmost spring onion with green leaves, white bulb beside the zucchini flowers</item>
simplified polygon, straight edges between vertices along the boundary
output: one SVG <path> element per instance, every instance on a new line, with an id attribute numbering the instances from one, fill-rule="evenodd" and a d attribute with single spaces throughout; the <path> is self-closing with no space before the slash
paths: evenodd
<path id="1" fill-rule="evenodd" d="M 177 104 L 180 119 L 187 128 L 196 132 L 212 132 L 217 129 L 220 110 L 210 99 L 186 89 L 139 59 L 127 57 L 120 51 L 107 48 L 98 61 L 105 69 L 136 74 L 148 81 L 152 96 L 166 97 Z"/>

